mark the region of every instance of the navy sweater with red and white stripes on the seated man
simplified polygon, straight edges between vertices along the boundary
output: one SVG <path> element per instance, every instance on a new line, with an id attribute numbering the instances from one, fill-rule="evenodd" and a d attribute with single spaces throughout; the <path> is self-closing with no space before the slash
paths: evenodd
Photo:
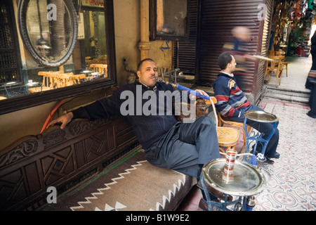
<path id="1" fill-rule="evenodd" d="M 250 105 L 242 90 L 237 86 L 234 76 L 230 77 L 219 72 L 212 86 L 217 99 L 216 109 L 223 117 L 240 117 L 239 108 Z"/>

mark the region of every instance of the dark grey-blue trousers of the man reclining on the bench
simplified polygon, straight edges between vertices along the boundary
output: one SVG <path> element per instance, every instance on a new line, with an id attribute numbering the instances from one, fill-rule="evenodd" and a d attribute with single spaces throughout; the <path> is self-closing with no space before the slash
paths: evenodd
<path id="1" fill-rule="evenodd" d="M 220 158 L 216 126 L 210 117 L 192 123 L 176 123 L 164 136 L 145 150 L 152 165 L 199 177 L 205 163 Z"/>

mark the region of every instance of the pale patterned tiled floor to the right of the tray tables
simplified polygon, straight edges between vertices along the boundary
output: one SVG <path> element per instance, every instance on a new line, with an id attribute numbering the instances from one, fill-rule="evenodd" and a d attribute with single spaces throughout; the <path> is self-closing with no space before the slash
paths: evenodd
<path id="1" fill-rule="evenodd" d="M 265 165 L 271 179 L 258 195 L 254 210 L 316 210 L 316 121 L 308 107 L 267 103 L 279 117 L 280 158 Z"/>

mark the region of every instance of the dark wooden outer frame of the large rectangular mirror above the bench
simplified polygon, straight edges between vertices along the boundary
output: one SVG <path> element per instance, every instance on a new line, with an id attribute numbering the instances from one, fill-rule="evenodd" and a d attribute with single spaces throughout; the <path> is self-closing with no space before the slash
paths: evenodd
<path id="1" fill-rule="evenodd" d="M 28 2 L 29 0 L 20 1 Z M 70 0 L 70 2 L 72 1 Z M 0 115 L 12 113 L 25 108 L 32 108 L 44 103 L 60 101 L 64 98 L 78 96 L 98 89 L 105 89 L 107 86 L 113 86 L 117 84 L 113 0 L 105 0 L 104 2 L 108 77 L 94 82 L 85 82 L 83 84 L 76 84 L 74 86 L 66 86 L 61 89 L 51 89 L 49 91 L 41 91 L 35 94 L 16 96 L 13 98 L 1 100 Z"/>

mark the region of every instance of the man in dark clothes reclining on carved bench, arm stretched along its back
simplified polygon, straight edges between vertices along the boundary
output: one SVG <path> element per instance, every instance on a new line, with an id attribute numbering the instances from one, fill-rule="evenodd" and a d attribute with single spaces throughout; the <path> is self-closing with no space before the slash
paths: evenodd
<path id="1" fill-rule="evenodd" d="M 73 118 L 96 120 L 120 113 L 129 120 L 148 162 L 199 180 L 203 165 L 220 158 L 213 120 L 199 117 L 192 123 L 179 122 L 169 110 L 169 99 L 166 99 L 176 96 L 176 90 L 164 82 L 157 82 L 157 66 L 152 59 L 139 63 L 137 75 L 133 84 L 121 86 L 108 98 L 62 115 L 48 126 L 61 122 L 63 129 Z M 197 92 L 207 96 L 202 90 Z"/>

